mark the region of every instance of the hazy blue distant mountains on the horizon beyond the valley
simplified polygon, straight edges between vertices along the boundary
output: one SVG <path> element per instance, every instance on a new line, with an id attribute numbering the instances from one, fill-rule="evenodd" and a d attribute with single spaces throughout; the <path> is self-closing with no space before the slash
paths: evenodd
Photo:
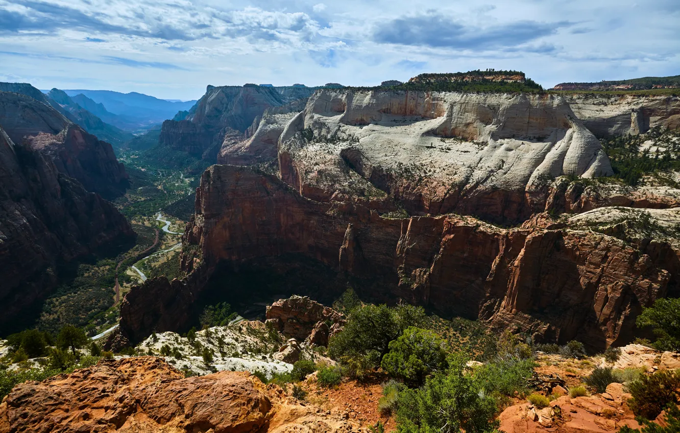
<path id="1" fill-rule="evenodd" d="M 154 98 L 137 92 L 120 93 L 112 90 L 64 90 L 69 96 L 82 94 L 95 104 L 101 104 L 103 109 L 116 119 L 109 118 L 112 124 L 126 130 L 146 129 L 160 124 L 166 119 L 172 119 L 177 111 L 191 109 L 195 100 L 186 102 L 171 102 Z M 105 118 L 105 115 L 102 114 Z"/>

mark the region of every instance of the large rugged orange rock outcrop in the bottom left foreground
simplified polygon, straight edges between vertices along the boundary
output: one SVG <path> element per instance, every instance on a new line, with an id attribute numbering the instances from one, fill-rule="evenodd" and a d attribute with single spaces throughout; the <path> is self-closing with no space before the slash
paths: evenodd
<path id="1" fill-rule="evenodd" d="M 188 377 L 155 357 L 102 360 L 0 404 L 2 432 L 356 432 L 249 373 Z"/>

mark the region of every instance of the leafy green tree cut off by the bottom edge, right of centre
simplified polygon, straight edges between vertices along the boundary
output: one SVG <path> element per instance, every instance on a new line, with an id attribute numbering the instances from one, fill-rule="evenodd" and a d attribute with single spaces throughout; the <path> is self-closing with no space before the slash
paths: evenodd
<path id="1" fill-rule="evenodd" d="M 466 371 L 466 361 L 454 354 L 445 373 L 436 373 L 422 388 L 399 393 L 399 433 L 486 433 L 498 426 L 496 400 Z"/>

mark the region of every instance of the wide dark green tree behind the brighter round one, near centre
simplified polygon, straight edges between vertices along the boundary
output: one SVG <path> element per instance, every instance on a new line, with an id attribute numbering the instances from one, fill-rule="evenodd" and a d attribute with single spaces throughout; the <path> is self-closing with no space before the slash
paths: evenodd
<path id="1" fill-rule="evenodd" d="M 390 341 L 397 339 L 409 326 L 424 322 L 422 307 L 399 304 L 356 307 L 347 317 L 343 331 L 328 343 L 328 353 L 335 359 L 360 357 L 377 367 L 390 352 Z"/>

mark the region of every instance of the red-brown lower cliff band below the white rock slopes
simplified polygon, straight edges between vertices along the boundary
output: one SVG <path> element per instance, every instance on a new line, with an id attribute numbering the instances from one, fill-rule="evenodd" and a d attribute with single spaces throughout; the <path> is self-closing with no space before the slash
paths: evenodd
<path id="1" fill-rule="evenodd" d="M 632 339 L 641 307 L 677 286 L 678 258 L 664 242 L 631 246 L 590 231 L 499 229 L 455 215 L 386 218 L 361 204 L 309 200 L 251 168 L 209 168 L 196 212 L 183 242 L 199 252 L 182 258 L 193 280 L 133 288 L 121 307 L 129 335 L 176 327 L 190 305 L 182 294 L 197 296 L 220 265 L 290 253 L 338 269 L 359 290 L 371 287 L 364 295 L 377 301 L 404 299 L 536 341 L 579 338 L 598 349 Z M 173 322 L 160 312 L 148 320 L 150 302 L 173 312 Z"/>

